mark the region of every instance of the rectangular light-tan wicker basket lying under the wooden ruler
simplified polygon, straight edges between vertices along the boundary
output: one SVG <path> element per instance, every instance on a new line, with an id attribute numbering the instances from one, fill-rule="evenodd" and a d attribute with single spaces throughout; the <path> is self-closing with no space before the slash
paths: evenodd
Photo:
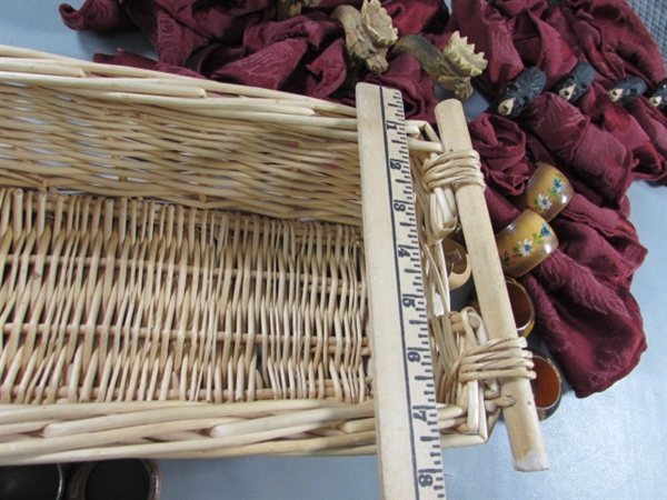
<path id="1" fill-rule="evenodd" d="M 2 463 L 374 453 L 356 110 L 0 56 Z M 482 443 L 496 378 L 531 364 L 449 310 L 456 207 L 421 178 L 437 136 L 407 130 L 442 446 Z"/>

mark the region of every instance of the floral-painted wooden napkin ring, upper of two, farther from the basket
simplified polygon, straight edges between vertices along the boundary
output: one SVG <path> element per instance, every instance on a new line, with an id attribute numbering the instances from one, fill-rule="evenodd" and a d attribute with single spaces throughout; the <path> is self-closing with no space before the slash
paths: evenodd
<path id="1" fill-rule="evenodd" d="M 536 166 L 537 170 L 528 179 L 526 189 L 516 204 L 521 210 L 532 210 L 548 222 L 567 207 L 575 196 L 575 189 L 565 174 L 552 164 L 538 161 Z"/>

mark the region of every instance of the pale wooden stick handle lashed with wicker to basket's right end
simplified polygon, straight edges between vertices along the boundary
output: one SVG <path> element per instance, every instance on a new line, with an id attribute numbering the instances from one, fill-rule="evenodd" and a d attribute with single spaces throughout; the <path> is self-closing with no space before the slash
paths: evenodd
<path id="1" fill-rule="evenodd" d="M 471 150 L 470 136 L 459 101 L 442 101 L 436 108 L 444 152 Z M 481 317 L 490 339 L 518 337 L 500 260 L 494 243 L 494 230 L 484 198 L 484 189 L 474 183 L 455 188 L 468 258 L 477 288 Z M 537 471 L 549 468 L 545 443 L 527 379 L 502 379 L 501 394 L 516 403 L 504 409 L 515 469 Z"/>

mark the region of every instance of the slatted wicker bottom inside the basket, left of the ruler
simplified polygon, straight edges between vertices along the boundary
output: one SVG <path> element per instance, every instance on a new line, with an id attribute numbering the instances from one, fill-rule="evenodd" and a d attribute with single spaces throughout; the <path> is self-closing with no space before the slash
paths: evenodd
<path id="1" fill-rule="evenodd" d="M 356 227 L 8 189 L 0 220 L 3 402 L 368 398 Z"/>

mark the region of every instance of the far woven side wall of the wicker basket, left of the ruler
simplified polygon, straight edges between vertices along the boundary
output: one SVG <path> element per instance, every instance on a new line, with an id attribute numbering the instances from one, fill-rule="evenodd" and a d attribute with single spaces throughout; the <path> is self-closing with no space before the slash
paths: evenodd
<path id="1" fill-rule="evenodd" d="M 6 186 L 359 223 L 354 109 L 64 58 L 2 72 Z"/>

